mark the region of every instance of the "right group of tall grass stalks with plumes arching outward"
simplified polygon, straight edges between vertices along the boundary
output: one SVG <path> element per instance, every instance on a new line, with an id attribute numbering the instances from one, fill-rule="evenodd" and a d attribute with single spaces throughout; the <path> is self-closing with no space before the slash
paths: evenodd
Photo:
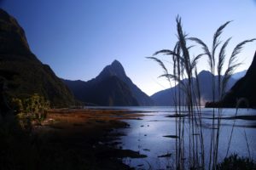
<path id="1" fill-rule="evenodd" d="M 219 26 L 217 31 L 214 33 L 213 41 L 212 41 L 212 53 L 210 53 L 209 48 L 207 47 L 206 43 L 201 41 L 201 39 L 196 37 L 191 37 L 189 40 L 195 41 L 198 44 L 201 45 L 203 52 L 208 57 L 208 63 L 210 66 L 210 70 L 212 72 L 212 100 L 215 102 L 215 70 L 218 71 L 218 101 L 222 100 L 224 98 L 224 93 L 226 91 L 227 84 L 230 80 L 231 75 L 234 73 L 236 68 L 241 65 L 241 63 L 237 63 L 237 54 L 240 54 L 241 48 L 243 45 L 245 45 L 247 42 L 253 42 L 255 39 L 246 40 L 243 42 L 240 42 L 236 45 L 234 48 L 232 54 L 230 55 L 230 58 L 228 60 L 228 67 L 226 71 L 224 72 L 223 79 L 221 78 L 224 61 L 226 58 L 225 49 L 228 46 L 230 39 L 228 38 L 222 45 L 222 47 L 219 50 L 218 54 L 218 65 L 217 68 L 216 63 L 216 50 L 218 46 L 221 45 L 221 41 L 219 37 L 221 36 L 222 32 L 224 31 L 224 28 L 230 24 L 231 21 L 228 21 L 224 23 L 224 25 Z M 211 137 L 211 147 L 210 147 L 210 156 L 209 156 L 209 165 L 208 168 L 212 167 L 212 169 L 216 169 L 216 165 L 218 163 L 218 143 L 219 143 L 219 134 L 221 129 L 221 118 L 222 118 L 222 109 L 221 106 L 218 106 L 218 116 L 215 115 L 215 108 L 212 108 L 212 137 Z M 217 127 L 215 126 L 217 121 Z M 217 132 L 215 132 L 217 130 Z"/>

